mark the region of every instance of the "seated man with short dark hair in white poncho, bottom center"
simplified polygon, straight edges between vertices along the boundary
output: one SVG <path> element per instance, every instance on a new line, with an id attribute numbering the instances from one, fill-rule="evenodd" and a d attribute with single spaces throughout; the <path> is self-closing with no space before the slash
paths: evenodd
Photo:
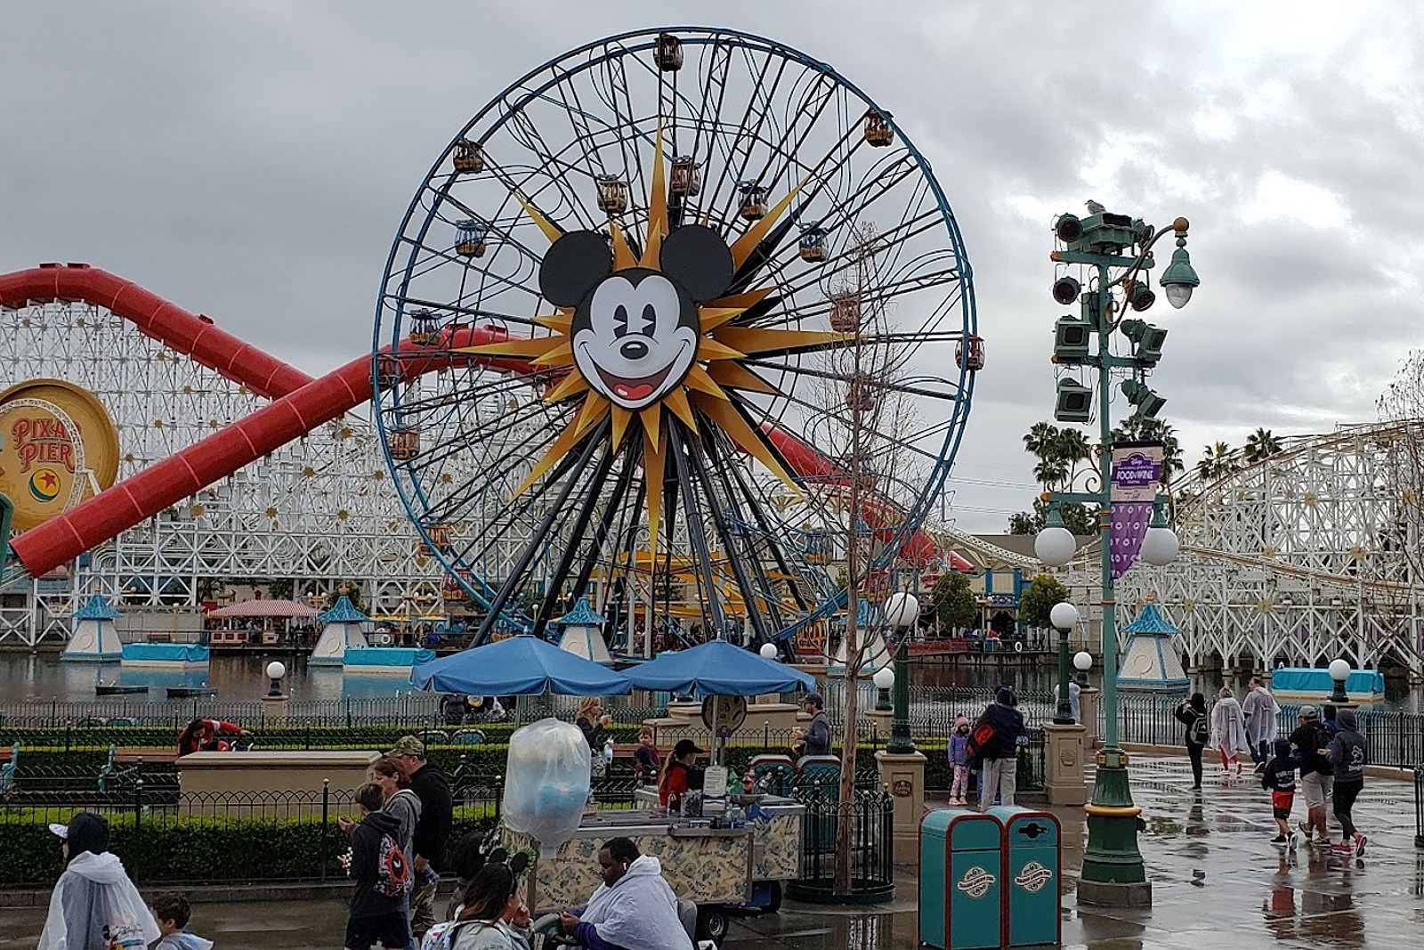
<path id="1" fill-rule="evenodd" d="M 590 950 L 692 950 L 678 917 L 678 896 L 662 879 L 662 865 L 639 855 L 627 837 L 611 837 L 598 852 L 604 883 L 582 912 L 561 916 L 564 931 Z"/>

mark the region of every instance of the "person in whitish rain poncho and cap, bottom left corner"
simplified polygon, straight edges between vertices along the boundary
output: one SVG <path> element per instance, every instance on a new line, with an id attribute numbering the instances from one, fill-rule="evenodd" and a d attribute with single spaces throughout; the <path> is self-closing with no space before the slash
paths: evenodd
<path id="1" fill-rule="evenodd" d="M 80 812 L 50 830 L 64 842 L 64 873 L 50 896 L 37 950 L 142 950 L 158 940 L 148 904 L 108 850 L 108 822 Z"/>

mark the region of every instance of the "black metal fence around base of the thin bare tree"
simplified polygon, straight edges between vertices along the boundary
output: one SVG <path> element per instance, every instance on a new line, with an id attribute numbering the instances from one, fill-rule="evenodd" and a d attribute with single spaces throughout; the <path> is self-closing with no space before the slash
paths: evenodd
<path id="1" fill-rule="evenodd" d="M 800 900 L 886 900 L 894 894 L 894 798 L 881 789 L 857 789 L 840 800 L 839 788 L 803 788 L 802 872 L 790 896 Z M 837 832 L 850 825 L 850 890 L 836 889 Z"/>

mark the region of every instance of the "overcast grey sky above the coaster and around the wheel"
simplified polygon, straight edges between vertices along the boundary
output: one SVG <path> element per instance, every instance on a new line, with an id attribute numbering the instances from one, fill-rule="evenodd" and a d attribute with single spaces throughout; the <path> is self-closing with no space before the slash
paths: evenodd
<path id="1" fill-rule="evenodd" d="M 676 21 L 830 63 L 933 164 L 988 349 L 963 528 L 1031 501 L 1020 437 L 1051 417 L 1062 312 L 1048 228 L 1088 198 L 1192 221 L 1202 286 L 1149 313 L 1189 461 L 1257 426 L 1373 419 L 1424 346 L 1424 31 L 1404 3 L 11 0 L 0 271 L 87 261 L 326 372 L 369 348 L 390 241 L 460 125 L 571 47 Z"/>

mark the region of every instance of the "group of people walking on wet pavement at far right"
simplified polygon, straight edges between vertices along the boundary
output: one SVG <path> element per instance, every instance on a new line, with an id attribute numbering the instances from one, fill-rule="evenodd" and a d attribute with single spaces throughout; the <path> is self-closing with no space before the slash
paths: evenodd
<path id="1" fill-rule="evenodd" d="M 1364 853 L 1367 837 L 1354 825 L 1354 802 L 1364 788 L 1368 752 L 1354 709 L 1324 705 L 1300 706 L 1296 728 L 1277 735 L 1280 706 L 1260 678 L 1252 677 L 1245 701 L 1222 687 L 1210 711 L 1206 696 L 1193 692 L 1176 708 L 1183 743 L 1192 762 L 1192 789 L 1202 789 L 1202 758 L 1216 751 L 1222 779 L 1243 773 L 1240 752 L 1255 762 L 1262 789 L 1270 793 L 1276 836 L 1272 843 L 1294 850 L 1302 842 L 1329 847 L 1340 857 Z M 1293 828 L 1296 792 L 1304 799 L 1304 818 Z M 1327 813 L 1334 813 L 1340 840 L 1331 843 Z"/>

